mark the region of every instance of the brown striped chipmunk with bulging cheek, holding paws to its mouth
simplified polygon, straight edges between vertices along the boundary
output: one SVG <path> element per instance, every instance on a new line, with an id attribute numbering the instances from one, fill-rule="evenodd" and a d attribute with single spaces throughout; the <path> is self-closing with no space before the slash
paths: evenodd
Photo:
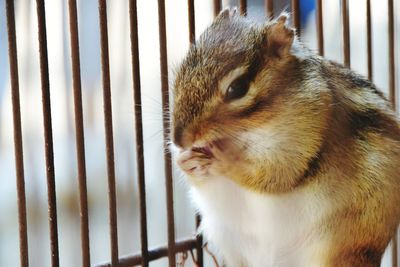
<path id="1" fill-rule="evenodd" d="M 367 79 L 283 14 L 224 10 L 177 70 L 172 140 L 227 266 L 379 266 L 400 218 L 400 129 Z"/>

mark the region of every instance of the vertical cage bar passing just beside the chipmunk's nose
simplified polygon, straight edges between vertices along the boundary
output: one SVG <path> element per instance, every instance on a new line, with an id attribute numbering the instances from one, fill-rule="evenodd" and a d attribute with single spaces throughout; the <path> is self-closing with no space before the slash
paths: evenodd
<path id="1" fill-rule="evenodd" d="M 160 38 L 160 72 L 161 72 L 161 93 L 163 112 L 169 110 L 168 93 L 168 59 L 167 59 L 167 35 L 165 28 L 165 0 L 158 0 L 158 23 Z M 169 140 L 169 122 L 163 116 L 164 144 Z M 167 220 L 168 220 L 168 262 L 170 267 L 175 267 L 175 223 L 174 223 L 174 200 L 172 184 L 171 153 L 164 148 L 165 185 L 167 195 Z"/>

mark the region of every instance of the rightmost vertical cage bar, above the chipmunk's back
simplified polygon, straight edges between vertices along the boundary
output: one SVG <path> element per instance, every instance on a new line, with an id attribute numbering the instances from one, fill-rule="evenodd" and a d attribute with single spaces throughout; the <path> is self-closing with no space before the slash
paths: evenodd
<path id="1" fill-rule="evenodd" d="M 388 34 L 389 34 L 389 99 L 396 109 L 396 81 L 395 81 L 395 44 L 394 44 L 394 11 L 393 0 L 388 0 Z M 397 255 L 397 254 L 396 254 Z"/>

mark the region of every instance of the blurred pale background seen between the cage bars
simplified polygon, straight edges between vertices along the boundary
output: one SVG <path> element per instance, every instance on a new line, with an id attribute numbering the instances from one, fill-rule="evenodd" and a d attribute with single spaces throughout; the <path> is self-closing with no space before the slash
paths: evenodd
<path id="1" fill-rule="evenodd" d="M 325 56 L 343 62 L 339 0 L 324 0 Z M 366 1 L 349 1 L 351 67 L 367 75 Z M 223 1 L 223 7 L 237 1 Z M 290 1 L 274 2 L 275 14 L 290 10 Z M 388 6 L 372 0 L 373 77 L 388 93 Z M 196 0 L 196 35 L 213 19 L 211 0 Z M 263 0 L 248 1 L 248 16 L 265 20 Z M 50 266 L 48 207 L 44 161 L 43 122 L 35 1 L 16 0 L 16 31 L 21 94 L 24 167 L 31 266 Z M 395 29 L 399 29 L 400 4 L 395 1 Z M 67 0 L 46 1 L 51 108 L 59 224 L 61 266 L 81 264 L 77 162 Z M 99 21 L 96 0 L 78 1 L 83 114 L 89 199 L 92 264 L 109 261 L 108 198 L 103 99 L 100 70 Z M 188 47 L 187 1 L 166 0 L 167 46 L 170 83 L 173 70 Z M 301 1 L 301 39 L 317 48 L 315 1 Z M 164 157 L 157 1 L 138 0 L 142 111 L 147 190 L 149 247 L 167 243 Z M 136 179 L 135 129 L 130 60 L 128 0 L 108 1 L 115 170 L 118 205 L 119 254 L 140 250 L 139 207 Z M 399 62 L 399 34 L 396 35 Z M 15 185 L 12 106 L 10 94 L 5 0 L 0 0 L 0 266 L 19 265 L 18 216 Z M 399 66 L 398 64 L 396 64 Z M 399 81 L 399 68 L 396 70 Z M 397 85 L 397 88 L 398 85 Z M 195 232 L 195 212 L 182 174 L 174 169 L 176 238 Z M 390 252 L 382 266 L 391 266 Z M 188 260 L 187 266 L 191 262 Z M 161 259 L 151 266 L 167 266 Z M 213 266 L 207 257 L 206 266 Z"/>

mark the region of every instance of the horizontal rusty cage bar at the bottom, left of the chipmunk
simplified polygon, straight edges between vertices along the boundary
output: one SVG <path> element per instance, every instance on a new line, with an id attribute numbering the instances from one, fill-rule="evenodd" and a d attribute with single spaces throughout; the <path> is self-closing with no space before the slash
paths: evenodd
<path id="1" fill-rule="evenodd" d="M 175 252 L 180 253 L 180 252 L 185 252 L 192 250 L 196 247 L 196 239 L 186 239 L 182 241 L 177 241 L 175 243 Z M 149 260 L 150 261 L 155 261 L 160 258 L 168 256 L 168 247 L 167 246 L 161 246 L 161 247 L 156 247 L 152 248 L 149 250 Z M 120 267 L 130 267 L 130 266 L 135 266 L 139 265 L 142 262 L 142 254 L 137 253 L 134 255 L 129 255 L 129 256 L 124 256 L 119 259 L 119 266 Z M 95 265 L 95 267 L 111 267 L 110 263 L 102 263 Z"/>

